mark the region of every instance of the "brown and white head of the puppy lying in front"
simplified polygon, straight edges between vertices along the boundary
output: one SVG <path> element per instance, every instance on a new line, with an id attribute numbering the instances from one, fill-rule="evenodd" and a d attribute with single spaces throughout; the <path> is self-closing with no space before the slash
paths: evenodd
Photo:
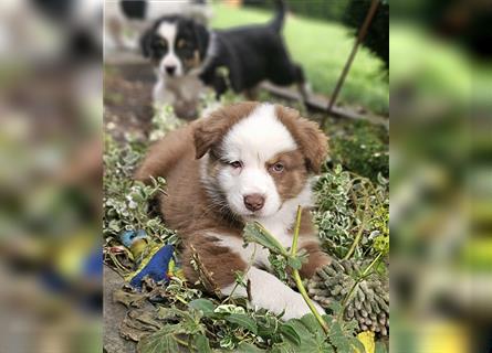
<path id="1" fill-rule="evenodd" d="M 268 218 L 290 200 L 310 202 L 326 137 L 292 109 L 240 104 L 205 119 L 195 132 L 201 176 L 214 202 L 244 218 Z"/>

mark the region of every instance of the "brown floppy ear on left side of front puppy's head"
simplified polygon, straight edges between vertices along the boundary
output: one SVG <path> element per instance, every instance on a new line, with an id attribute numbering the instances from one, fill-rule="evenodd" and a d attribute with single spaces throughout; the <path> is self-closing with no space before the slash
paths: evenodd
<path id="1" fill-rule="evenodd" d="M 255 101 L 232 104 L 213 111 L 209 117 L 193 122 L 196 158 L 200 159 L 212 146 L 221 141 L 229 129 L 249 116 L 258 106 Z"/>

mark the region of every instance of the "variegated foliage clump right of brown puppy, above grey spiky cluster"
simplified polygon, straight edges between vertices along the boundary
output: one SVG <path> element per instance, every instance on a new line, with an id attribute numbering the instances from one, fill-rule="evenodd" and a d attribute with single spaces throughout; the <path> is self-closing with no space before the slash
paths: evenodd
<path id="1" fill-rule="evenodd" d="M 314 188 L 317 207 L 314 222 L 326 252 L 343 258 L 362 232 L 355 256 L 374 254 L 373 238 L 389 236 L 389 186 L 384 179 L 375 184 L 344 171 L 341 165 L 326 171 Z"/>

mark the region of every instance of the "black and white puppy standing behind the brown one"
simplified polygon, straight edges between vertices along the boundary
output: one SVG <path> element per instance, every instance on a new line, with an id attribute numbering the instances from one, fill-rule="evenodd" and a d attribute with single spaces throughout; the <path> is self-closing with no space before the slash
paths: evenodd
<path id="1" fill-rule="evenodd" d="M 291 60 L 282 38 L 285 4 L 276 4 L 273 20 L 262 25 L 209 31 L 182 17 L 157 20 L 142 38 L 144 56 L 157 69 L 154 97 L 164 96 L 168 82 L 195 75 L 218 96 L 229 87 L 244 93 L 270 81 L 280 86 L 297 84 L 306 99 L 303 69 Z M 222 67 L 227 68 L 226 75 L 219 69 Z"/>

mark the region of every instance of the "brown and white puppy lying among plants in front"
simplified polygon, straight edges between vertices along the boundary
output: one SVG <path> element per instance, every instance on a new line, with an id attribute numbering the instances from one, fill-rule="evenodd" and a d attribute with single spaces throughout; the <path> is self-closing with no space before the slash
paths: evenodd
<path id="1" fill-rule="evenodd" d="M 137 171 L 138 180 L 165 176 L 161 212 L 184 240 L 186 277 L 198 279 L 191 247 L 223 295 L 234 288 L 234 272 L 245 271 L 253 306 L 284 319 L 310 310 L 301 295 L 268 270 L 268 250 L 243 247 L 245 222 L 258 221 L 285 247 L 292 244 L 299 205 L 304 207 L 300 247 L 308 254 L 301 275 L 311 277 L 329 263 L 317 242 L 307 207 L 311 179 L 327 152 L 326 136 L 296 110 L 260 103 L 227 106 L 157 142 Z M 234 296 L 247 296 L 239 287 Z M 321 312 L 322 309 L 318 307 Z"/>

